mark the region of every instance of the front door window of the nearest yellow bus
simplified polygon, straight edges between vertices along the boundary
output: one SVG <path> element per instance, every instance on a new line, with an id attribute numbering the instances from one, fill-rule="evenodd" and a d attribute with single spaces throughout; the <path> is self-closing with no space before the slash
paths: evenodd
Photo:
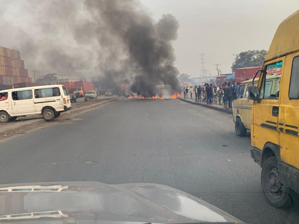
<path id="1" fill-rule="evenodd" d="M 281 74 L 282 62 L 273 63 L 265 67 L 266 75 L 263 75 L 260 99 L 278 99 L 279 86 L 280 86 L 280 74 Z M 266 76 L 277 77 L 272 81 L 266 82 Z"/>

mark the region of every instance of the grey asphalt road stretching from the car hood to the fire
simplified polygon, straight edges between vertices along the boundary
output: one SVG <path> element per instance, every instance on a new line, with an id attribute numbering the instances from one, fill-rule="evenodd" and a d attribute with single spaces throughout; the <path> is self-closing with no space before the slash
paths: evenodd
<path id="1" fill-rule="evenodd" d="M 298 223 L 299 202 L 271 207 L 232 115 L 178 99 L 122 99 L 0 143 L 0 183 L 152 182 L 246 223 Z"/>

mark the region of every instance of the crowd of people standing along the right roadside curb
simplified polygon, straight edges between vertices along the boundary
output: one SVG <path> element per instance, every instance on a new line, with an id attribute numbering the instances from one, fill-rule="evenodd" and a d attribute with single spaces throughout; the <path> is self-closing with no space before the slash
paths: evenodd
<path id="1" fill-rule="evenodd" d="M 195 102 L 204 102 L 207 104 L 219 104 L 223 105 L 225 109 L 232 110 L 233 93 L 237 92 L 239 87 L 239 82 L 236 85 L 236 81 L 225 82 L 221 87 L 213 86 L 213 84 L 205 83 L 201 86 L 187 86 L 183 88 L 184 99 L 188 98 L 190 93 L 190 98 L 192 98 L 193 93 L 195 93 Z"/>

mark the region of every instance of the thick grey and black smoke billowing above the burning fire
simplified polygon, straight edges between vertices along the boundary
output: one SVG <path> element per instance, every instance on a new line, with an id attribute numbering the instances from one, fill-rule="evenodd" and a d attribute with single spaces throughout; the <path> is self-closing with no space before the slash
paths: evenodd
<path id="1" fill-rule="evenodd" d="M 172 47 L 179 28 L 174 16 L 165 14 L 155 22 L 135 0 L 31 0 L 22 11 L 31 17 L 32 30 L 13 21 L 6 27 L 15 26 L 11 48 L 21 51 L 29 69 L 93 76 L 120 95 L 131 90 L 155 96 L 161 84 L 170 93 L 180 91 Z"/>

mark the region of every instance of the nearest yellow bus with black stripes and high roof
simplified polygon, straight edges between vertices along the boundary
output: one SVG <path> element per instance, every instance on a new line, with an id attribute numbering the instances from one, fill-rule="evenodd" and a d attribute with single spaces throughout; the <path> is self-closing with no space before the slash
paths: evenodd
<path id="1" fill-rule="evenodd" d="M 289 189 L 299 193 L 299 10 L 278 26 L 257 86 L 250 86 L 251 157 L 261 168 L 264 195 L 274 206 L 289 202 Z M 280 74 L 276 93 L 266 76 Z M 254 83 L 255 79 L 253 79 Z"/>

